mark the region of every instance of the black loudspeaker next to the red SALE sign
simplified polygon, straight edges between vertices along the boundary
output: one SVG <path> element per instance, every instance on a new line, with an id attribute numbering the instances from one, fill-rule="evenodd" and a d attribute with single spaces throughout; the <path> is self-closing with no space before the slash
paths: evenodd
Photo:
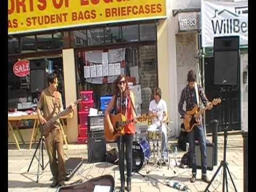
<path id="1" fill-rule="evenodd" d="M 30 69 L 30 92 L 42 92 L 47 87 L 45 69 Z"/>

